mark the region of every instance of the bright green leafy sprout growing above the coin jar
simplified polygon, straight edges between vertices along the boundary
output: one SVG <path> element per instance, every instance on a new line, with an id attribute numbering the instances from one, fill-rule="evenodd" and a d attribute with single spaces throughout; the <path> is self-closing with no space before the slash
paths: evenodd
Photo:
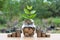
<path id="1" fill-rule="evenodd" d="M 24 14 L 23 14 L 23 18 L 25 19 L 33 19 L 36 16 L 36 10 L 32 10 L 33 7 L 32 6 L 27 6 L 26 8 L 24 8 Z"/>

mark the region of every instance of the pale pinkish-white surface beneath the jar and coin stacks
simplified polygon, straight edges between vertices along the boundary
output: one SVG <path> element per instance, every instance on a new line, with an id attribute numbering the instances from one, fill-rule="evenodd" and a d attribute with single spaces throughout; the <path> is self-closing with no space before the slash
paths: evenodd
<path id="1" fill-rule="evenodd" d="M 51 34 L 50 38 L 37 38 L 37 37 L 21 37 L 21 38 L 8 38 L 7 34 L 0 33 L 0 40 L 60 40 L 60 34 Z"/>

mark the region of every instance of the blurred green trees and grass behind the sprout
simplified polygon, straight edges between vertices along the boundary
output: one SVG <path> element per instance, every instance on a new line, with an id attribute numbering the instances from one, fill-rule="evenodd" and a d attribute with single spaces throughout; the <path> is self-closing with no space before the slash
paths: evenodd
<path id="1" fill-rule="evenodd" d="M 24 8 L 29 5 L 36 10 L 36 17 L 33 19 L 37 26 L 41 26 L 42 19 L 46 19 L 48 25 L 54 23 L 60 27 L 60 0 L 0 0 L 0 29 L 12 27 L 14 21 L 18 27 L 22 26 Z"/>

